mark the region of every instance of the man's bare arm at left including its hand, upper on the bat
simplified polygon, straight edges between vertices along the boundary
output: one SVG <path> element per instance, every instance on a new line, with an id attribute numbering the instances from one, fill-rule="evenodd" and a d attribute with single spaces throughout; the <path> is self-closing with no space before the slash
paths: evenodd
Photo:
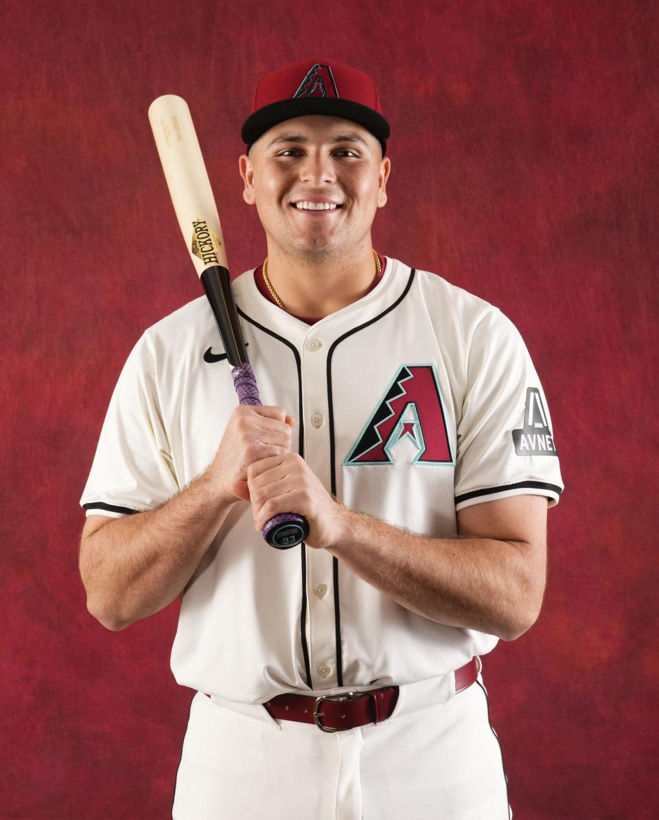
<path id="1" fill-rule="evenodd" d="M 290 451 L 293 423 L 283 408 L 238 405 L 213 462 L 181 493 L 149 512 L 89 516 L 79 553 L 89 612 L 117 631 L 171 604 L 233 504 L 249 501 L 249 465 Z"/>

